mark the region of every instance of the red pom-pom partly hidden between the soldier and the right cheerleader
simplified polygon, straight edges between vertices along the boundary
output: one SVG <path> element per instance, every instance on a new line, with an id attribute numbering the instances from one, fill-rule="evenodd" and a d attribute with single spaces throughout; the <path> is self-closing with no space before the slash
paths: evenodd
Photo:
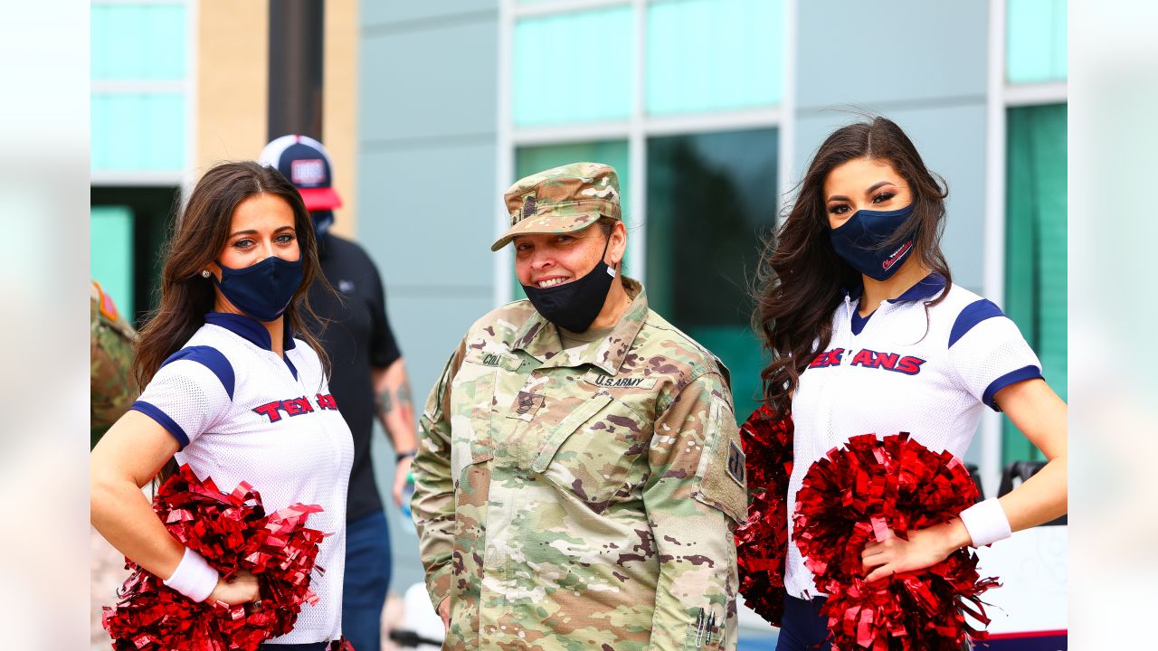
<path id="1" fill-rule="evenodd" d="M 735 531 L 740 594 L 749 608 L 778 627 L 784 616 L 792 419 L 762 405 L 740 427 L 740 440 L 748 471 L 748 520 Z"/>

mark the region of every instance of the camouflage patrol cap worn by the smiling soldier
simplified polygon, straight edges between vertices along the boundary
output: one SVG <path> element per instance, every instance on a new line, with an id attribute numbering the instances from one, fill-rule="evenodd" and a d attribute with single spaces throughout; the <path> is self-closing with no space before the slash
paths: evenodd
<path id="1" fill-rule="evenodd" d="M 497 251 L 515 235 L 571 233 L 595 224 L 600 215 L 623 219 L 620 177 L 615 168 L 579 162 L 520 178 L 503 195 L 511 227 L 492 246 Z"/>

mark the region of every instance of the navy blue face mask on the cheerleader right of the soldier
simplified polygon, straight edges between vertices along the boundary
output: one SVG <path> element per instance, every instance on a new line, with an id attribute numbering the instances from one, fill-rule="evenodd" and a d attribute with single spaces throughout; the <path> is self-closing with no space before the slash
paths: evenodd
<path id="1" fill-rule="evenodd" d="M 913 204 L 891 211 L 858 210 L 829 232 L 833 248 L 852 269 L 874 280 L 887 280 L 909 258 L 917 232 L 914 229 L 895 247 L 881 246 L 896 235 L 911 214 Z"/>

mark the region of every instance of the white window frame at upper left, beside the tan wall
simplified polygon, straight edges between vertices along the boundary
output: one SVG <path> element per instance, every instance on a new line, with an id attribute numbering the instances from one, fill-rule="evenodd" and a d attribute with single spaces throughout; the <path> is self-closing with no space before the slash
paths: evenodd
<path id="1" fill-rule="evenodd" d="M 169 171 L 154 170 L 91 170 L 89 184 L 104 186 L 178 186 L 190 183 L 189 173 L 195 167 L 197 148 L 197 21 L 198 0 L 91 0 L 93 6 L 109 5 L 176 5 L 185 7 L 185 78 L 183 80 L 108 79 L 93 80 L 91 92 L 116 94 L 182 93 L 185 103 L 185 160 L 182 168 Z M 184 193 L 184 192 L 183 192 Z"/>

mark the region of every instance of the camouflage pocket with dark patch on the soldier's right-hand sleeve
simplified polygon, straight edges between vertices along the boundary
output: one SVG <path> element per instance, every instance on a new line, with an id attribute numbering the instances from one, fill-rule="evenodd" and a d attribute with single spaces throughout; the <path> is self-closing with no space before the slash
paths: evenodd
<path id="1" fill-rule="evenodd" d="M 710 420 L 705 441 L 710 449 L 706 462 L 699 465 L 699 489 L 694 497 L 742 525 L 748 518 L 748 484 L 740 433 L 723 400 L 712 400 Z"/>

